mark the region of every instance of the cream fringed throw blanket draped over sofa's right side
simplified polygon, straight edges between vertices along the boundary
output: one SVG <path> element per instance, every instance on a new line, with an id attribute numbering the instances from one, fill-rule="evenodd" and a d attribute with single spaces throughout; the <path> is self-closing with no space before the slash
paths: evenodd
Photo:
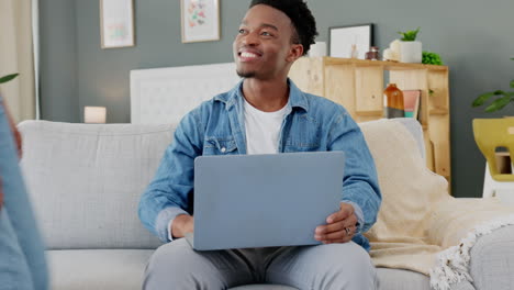
<path id="1" fill-rule="evenodd" d="M 366 233 L 375 265 L 429 275 L 435 289 L 471 281 L 469 250 L 476 238 L 514 224 L 514 210 L 495 199 L 449 196 L 448 182 L 426 168 L 416 141 L 402 124 L 381 120 L 360 127 L 382 191 L 378 221 Z"/>

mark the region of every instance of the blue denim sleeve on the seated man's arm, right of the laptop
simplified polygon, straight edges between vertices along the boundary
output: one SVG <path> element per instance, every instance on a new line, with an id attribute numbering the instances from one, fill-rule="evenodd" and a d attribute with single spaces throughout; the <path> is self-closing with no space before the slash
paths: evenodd
<path id="1" fill-rule="evenodd" d="M 359 232 L 365 233 L 377 222 L 382 196 L 364 134 L 346 110 L 342 111 L 331 127 L 328 149 L 345 153 L 342 201 L 358 205 L 354 209 L 357 219 L 362 219 Z"/>

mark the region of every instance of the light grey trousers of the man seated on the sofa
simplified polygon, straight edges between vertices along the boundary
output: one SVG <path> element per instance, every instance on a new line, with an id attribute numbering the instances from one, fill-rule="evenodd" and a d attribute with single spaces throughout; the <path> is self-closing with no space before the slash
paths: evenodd
<path id="1" fill-rule="evenodd" d="M 143 289 L 217 290 L 250 283 L 368 290 L 377 289 L 377 272 L 368 253 L 354 242 L 197 252 L 179 238 L 154 253 Z"/>

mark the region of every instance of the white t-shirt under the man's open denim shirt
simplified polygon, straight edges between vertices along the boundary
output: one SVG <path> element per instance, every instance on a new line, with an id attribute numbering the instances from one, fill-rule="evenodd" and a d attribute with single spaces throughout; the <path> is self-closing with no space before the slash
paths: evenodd
<path id="1" fill-rule="evenodd" d="M 287 105 L 275 112 L 262 112 L 245 99 L 245 131 L 247 154 L 278 153 L 280 129 Z"/>

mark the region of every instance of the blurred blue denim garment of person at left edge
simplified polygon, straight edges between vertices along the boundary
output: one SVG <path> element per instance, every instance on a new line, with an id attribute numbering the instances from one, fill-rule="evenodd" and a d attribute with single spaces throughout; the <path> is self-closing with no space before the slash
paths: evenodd
<path id="1" fill-rule="evenodd" d="M 49 289 L 44 241 L 32 211 L 0 96 L 0 289 Z M 40 221 L 41 222 L 41 221 Z"/>

